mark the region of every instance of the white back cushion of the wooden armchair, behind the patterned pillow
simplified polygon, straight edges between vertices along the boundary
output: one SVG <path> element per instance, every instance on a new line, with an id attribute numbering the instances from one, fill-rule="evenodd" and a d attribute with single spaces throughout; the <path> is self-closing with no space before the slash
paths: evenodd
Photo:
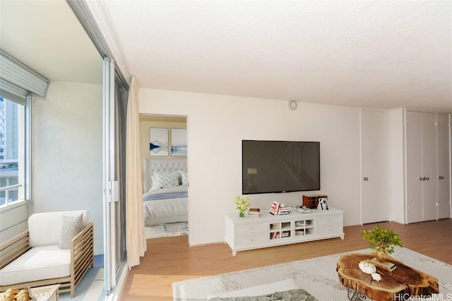
<path id="1" fill-rule="evenodd" d="M 61 238 L 61 216 L 78 216 L 83 214 L 83 227 L 90 222 L 88 210 L 43 212 L 32 214 L 28 219 L 30 247 L 58 245 Z"/>

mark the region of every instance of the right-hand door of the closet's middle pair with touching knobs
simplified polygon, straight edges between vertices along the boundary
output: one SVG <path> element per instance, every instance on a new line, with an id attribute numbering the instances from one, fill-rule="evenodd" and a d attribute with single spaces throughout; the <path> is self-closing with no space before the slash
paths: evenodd
<path id="1" fill-rule="evenodd" d="M 422 113 L 422 211 L 423 221 L 436 219 L 436 114 Z"/>

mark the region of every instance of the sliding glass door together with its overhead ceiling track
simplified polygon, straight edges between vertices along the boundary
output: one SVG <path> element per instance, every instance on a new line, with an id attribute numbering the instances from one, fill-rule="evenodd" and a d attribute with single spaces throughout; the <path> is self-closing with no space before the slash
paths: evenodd
<path id="1" fill-rule="evenodd" d="M 126 107 L 130 75 L 115 68 L 111 47 L 93 17 L 96 1 L 66 0 L 103 61 L 103 217 L 105 297 L 116 288 L 126 264 Z M 102 14 L 101 14 L 102 16 Z M 99 18 L 102 23 L 102 18 Z M 124 70 L 123 70 L 124 71 Z"/>

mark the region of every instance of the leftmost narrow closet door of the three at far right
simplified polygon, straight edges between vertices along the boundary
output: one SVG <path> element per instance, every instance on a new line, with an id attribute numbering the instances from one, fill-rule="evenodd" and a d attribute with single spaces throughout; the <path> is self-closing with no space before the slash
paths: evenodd
<path id="1" fill-rule="evenodd" d="M 422 221 L 422 115 L 406 112 L 407 223 Z"/>

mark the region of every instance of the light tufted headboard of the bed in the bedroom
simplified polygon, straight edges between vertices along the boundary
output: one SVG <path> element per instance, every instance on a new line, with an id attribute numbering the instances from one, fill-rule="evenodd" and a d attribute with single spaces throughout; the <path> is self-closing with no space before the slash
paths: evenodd
<path id="1" fill-rule="evenodd" d="M 153 183 L 150 176 L 155 171 L 187 171 L 186 159 L 145 159 L 144 161 L 144 178 L 143 178 L 143 192 L 147 192 L 152 187 Z"/>

